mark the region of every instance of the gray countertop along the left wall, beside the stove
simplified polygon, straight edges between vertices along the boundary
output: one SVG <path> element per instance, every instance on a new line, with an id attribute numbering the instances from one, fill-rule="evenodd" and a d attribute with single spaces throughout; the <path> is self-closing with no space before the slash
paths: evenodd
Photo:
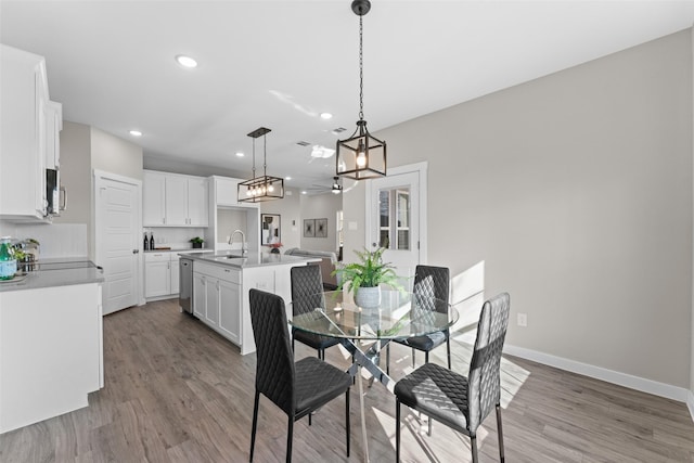
<path id="1" fill-rule="evenodd" d="M 104 281 L 103 270 L 85 257 L 40 259 L 34 262 L 34 267 L 33 271 L 0 282 L 0 293 Z"/>

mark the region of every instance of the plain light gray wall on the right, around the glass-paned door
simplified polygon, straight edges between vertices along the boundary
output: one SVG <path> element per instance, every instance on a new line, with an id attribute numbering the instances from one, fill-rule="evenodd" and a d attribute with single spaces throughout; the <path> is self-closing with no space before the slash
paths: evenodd
<path id="1" fill-rule="evenodd" d="M 694 388 L 692 133 L 687 29 L 376 137 L 391 165 L 428 160 L 428 262 L 484 262 L 507 344 Z"/>

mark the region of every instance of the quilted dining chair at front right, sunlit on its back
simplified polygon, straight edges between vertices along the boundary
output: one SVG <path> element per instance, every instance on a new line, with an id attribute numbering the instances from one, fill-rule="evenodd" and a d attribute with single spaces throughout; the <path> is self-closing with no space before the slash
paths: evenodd
<path id="1" fill-rule="evenodd" d="M 424 413 L 429 423 L 436 420 L 467 435 L 473 463 L 477 463 L 477 428 L 496 407 L 499 455 L 504 461 L 500 369 L 509 310 L 507 293 L 483 305 L 467 376 L 436 363 L 425 363 L 395 385 L 396 461 L 400 461 L 400 403 Z"/>

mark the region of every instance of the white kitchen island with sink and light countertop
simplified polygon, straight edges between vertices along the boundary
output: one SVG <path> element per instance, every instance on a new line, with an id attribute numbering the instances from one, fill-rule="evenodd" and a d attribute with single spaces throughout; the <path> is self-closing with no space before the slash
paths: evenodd
<path id="1" fill-rule="evenodd" d="M 190 253 L 193 260 L 193 316 L 240 347 L 241 355 L 256 350 L 250 325 L 248 291 L 257 288 L 280 295 L 291 310 L 292 267 L 320 259 L 250 252 Z M 292 313 L 287 313 L 287 320 Z"/>

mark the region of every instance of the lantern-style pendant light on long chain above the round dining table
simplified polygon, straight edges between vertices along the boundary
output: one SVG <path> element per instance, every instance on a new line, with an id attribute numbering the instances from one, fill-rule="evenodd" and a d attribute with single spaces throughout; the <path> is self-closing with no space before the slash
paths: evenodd
<path id="1" fill-rule="evenodd" d="M 348 139 L 337 141 L 337 156 L 335 156 L 336 173 L 355 180 L 386 175 L 386 142 L 372 137 L 364 120 L 362 20 L 369 10 L 371 10 L 369 0 L 351 2 L 351 11 L 359 16 L 359 120 L 357 129 Z"/>

